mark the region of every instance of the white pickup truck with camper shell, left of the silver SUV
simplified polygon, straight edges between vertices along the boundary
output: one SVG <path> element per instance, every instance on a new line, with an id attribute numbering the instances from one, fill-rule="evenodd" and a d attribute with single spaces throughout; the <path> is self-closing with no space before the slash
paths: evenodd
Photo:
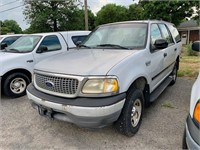
<path id="1" fill-rule="evenodd" d="M 0 79 L 3 93 L 19 97 L 26 93 L 36 63 L 76 47 L 74 39 L 83 40 L 89 31 L 40 33 L 20 37 L 0 52 Z M 52 66 L 54 67 L 54 66 Z"/>

